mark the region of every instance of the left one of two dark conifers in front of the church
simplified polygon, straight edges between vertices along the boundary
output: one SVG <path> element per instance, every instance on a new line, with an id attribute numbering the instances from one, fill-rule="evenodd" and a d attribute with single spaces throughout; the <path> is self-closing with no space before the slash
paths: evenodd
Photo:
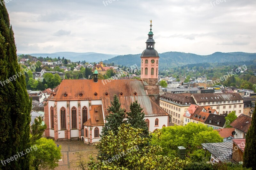
<path id="1" fill-rule="evenodd" d="M 118 127 L 125 123 L 125 113 L 124 109 L 120 108 L 121 104 L 119 103 L 119 100 L 117 96 L 114 96 L 114 100 L 111 101 L 111 107 L 108 107 L 109 115 L 106 116 L 106 123 L 105 126 L 102 129 L 102 135 L 106 136 L 108 135 L 109 131 L 112 130 L 113 133 L 116 135 L 118 132 Z"/>

